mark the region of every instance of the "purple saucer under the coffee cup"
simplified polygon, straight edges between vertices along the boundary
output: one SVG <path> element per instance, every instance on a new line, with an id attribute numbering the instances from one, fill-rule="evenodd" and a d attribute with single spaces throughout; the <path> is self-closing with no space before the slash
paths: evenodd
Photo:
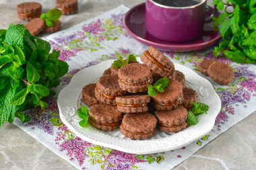
<path id="1" fill-rule="evenodd" d="M 203 29 L 203 35 L 196 40 L 185 43 L 166 42 L 158 40 L 154 36 L 150 35 L 145 26 L 145 10 L 146 3 L 141 3 L 131 8 L 125 15 L 123 22 L 125 28 L 133 38 L 146 44 L 148 46 L 154 46 L 160 50 L 174 51 L 174 52 L 187 52 L 194 50 L 201 50 L 214 44 L 221 38 L 219 32 L 214 31 L 214 24 L 205 24 Z M 213 10 L 212 7 L 207 6 L 207 11 Z M 207 13 L 206 11 L 206 13 Z"/>

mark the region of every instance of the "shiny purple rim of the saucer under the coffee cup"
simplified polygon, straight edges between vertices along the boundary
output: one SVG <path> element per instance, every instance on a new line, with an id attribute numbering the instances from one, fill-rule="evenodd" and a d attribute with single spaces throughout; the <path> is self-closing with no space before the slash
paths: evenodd
<path id="1" fill-rule="evenodd" d="M 156 46 L 162 50 L 172 50 L 174 52 L 190 52 L 190 51 L 195 51 L 195 50 L 201 50 L 203 48 L 206 48 L 207 46 L 211 46 L 212 44 L 214 44 L 214 42 L 216 42 L 217 40 L 219 40 L 222 37 L 220 32 L 218 32 L 218 36 L 216 36 L 215 38 L 213 38 L 210 41 L 199 43 L 199 44 L 186 45 L 185 47 L 183 47 L 184 46 L 183 43 L 181 43 L 181 45 L 168 45 L 168 44 L 161 44 L 158 42 L 152 42 L 150 40 L 141 38 L 140 36 L 137 36 L 137 34 L 135 34 L 131 29 L 129 29 L 129 26 L 127 26 L 127 20 L 128 20 L 128 16 L 130 15 L 130 13 L 132 13 L 135 9 L 137 9 L 138 7 L 143 6 L 143 5 L 146 5 L 146 3 L 140 3 L 138 5 L 135 5 L 134 7 L 129 9 L 129 11 L 127 11 L 127 13 L 125 13 L 125 17 L 123 17 L 123 24 L 125 26 L 125 30 L 127 30 L 127 32 L 131 36 L 133 36 L 133 38 L 135 38 L 135 40 L 138 40 L 139 42 L 142 42 L 143 44 L 147 44 L 150 46 Z M 202 47 L 200 47 L 200 46 L 202 46 Z M 181 50 L 181 48 L 183 50 Z"/>

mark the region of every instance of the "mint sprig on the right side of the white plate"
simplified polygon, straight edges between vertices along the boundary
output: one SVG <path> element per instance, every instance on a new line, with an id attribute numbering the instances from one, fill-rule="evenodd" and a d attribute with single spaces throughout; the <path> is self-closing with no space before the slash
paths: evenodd
<path id="1" fill-rule="evenodd" d="M 193 102 L 193 105 L 194 107 L 191 110 L 189 110 L 189 114 L 187 116 L 187 124 L 189 125 L 197 124 L 197 116 L 201 114 L 207 114 L 207 111 L 209 110 L 209 106 L 205 103 Z"/>

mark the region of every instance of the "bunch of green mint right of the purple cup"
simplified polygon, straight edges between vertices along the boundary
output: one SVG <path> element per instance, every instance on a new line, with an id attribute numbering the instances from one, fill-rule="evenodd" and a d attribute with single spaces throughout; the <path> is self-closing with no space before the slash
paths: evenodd
<path id="1" fill-rule="evenodd" d="M 224 10 L 218 18 L 213 17 L 223 39 L 214 49 L 215 56 L 224 52 L 234 62 L 256 62 L 256 0 L 214 0 L 213 4 Z M 234 10 L 229 12 L 230 8 Z"/>

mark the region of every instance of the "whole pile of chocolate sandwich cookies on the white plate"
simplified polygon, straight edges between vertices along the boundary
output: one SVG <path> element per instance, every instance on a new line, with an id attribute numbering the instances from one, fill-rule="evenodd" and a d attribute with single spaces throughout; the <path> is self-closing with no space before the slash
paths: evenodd
<path id="1" fill-rule="evenodd" d="M 153 46 L 141 54 L 141 61 L 110 67 L 96 84 L 82 89 L 84 103 L 92 106 L 90 124 L 102 130 L 120 127 L 124 136 L 137 140 L 150 138 L 156 128 L 179 132 L 187 127 L 187 110 L 197 101 L 197 92 L 185 87 L 185 75 Z M 150 97 L 148 86 L 163 77 L 168 86 Z"/>

